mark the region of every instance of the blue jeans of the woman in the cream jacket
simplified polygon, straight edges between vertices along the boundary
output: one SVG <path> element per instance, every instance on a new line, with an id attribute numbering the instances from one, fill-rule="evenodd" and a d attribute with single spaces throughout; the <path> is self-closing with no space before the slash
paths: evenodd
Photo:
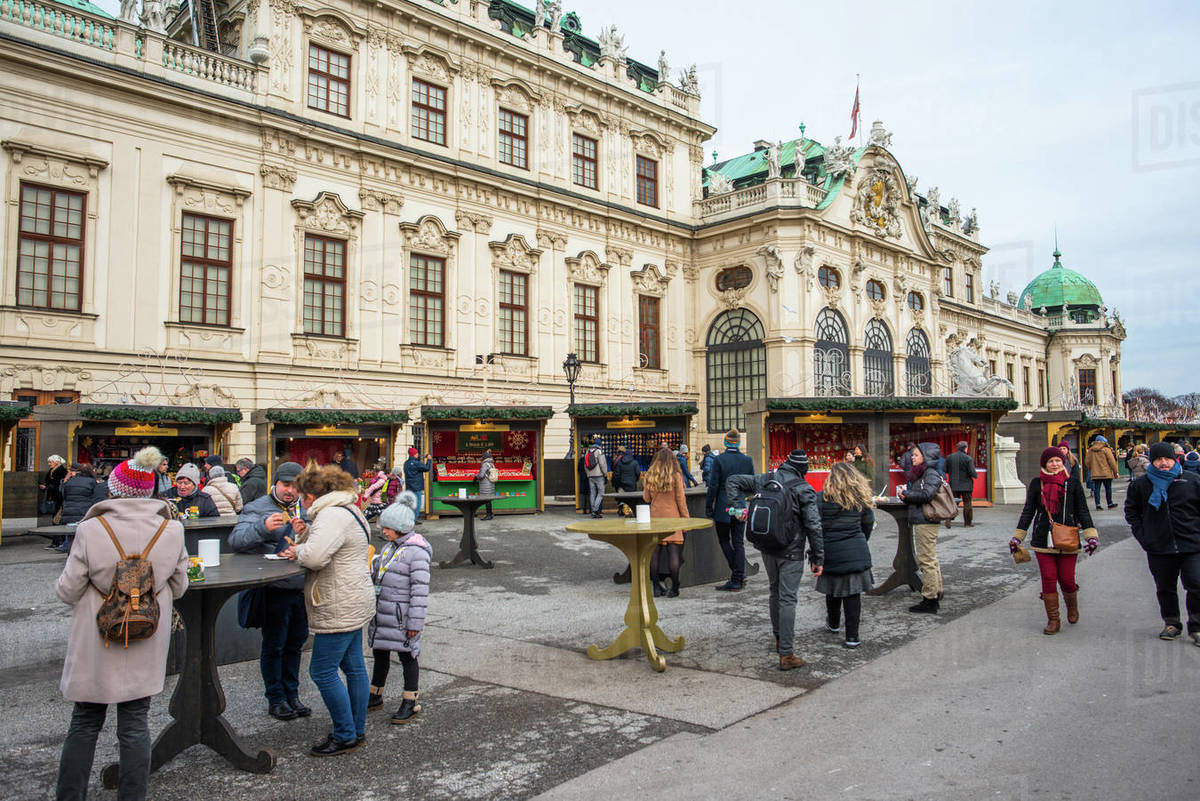
<path id="1" fill-rule="evenodd" d="M 337 670 L 346 674 L 342 683 Z M 362 661 L 362 630 L 312 638 L 308 675 L 320 691 L 329 717 L 334 721 L 334 739 L 354 742 L 367 730 L 367 666 Z"/>

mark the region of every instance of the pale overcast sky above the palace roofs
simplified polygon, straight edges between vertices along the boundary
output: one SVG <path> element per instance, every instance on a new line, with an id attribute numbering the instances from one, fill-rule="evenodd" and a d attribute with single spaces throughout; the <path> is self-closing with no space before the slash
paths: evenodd
<path id="1" fill-rule="evenodd" d="M 115 0 L 101 5 L 115 11 Z M 533 5 L 526 0 L 524 5 Z M 1020 291 L 1052 263 L 1126 320 L 1126 389 L 1200 391 L 1200 4 L 564 0 L 629 55 L 697 64 L 706 153 L 882 120 L 922 192 L 979 211 L 984 285 Z M 919 10 L 919 11 L 914 11 Z M 706 157 L 710 163 L 712 156 Z"/>

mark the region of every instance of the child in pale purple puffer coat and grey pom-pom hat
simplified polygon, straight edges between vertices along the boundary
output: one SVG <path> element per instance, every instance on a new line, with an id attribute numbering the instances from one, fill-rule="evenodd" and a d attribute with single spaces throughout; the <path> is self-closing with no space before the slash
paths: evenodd
<path id="1" fill-rule="evenodd" d="M 415 518 L 416 495 L 410 492 L 397 495 L 396 502 L 379 514 L 379 526 L 388 544 L 371 562 L 376 616 L 367 626 L 367 642 L 374 666 L 367 709 L 383 707 L 383 687 L 391 667 L 391 652 L 396 651 L 404 670 L 404 694 L 400 709 L 391 716 L 392 723 L 408 723 L 421 711 L 416 704 L 416 657 L 421 652 L 433 547 L 413 531 Z"/>

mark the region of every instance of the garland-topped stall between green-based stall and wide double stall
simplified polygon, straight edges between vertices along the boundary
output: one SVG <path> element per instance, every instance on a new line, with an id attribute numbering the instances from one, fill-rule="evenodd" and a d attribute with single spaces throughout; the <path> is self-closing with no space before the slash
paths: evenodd
<path id="1" fill-rule="evenodd" d="M 600 450 L 612 464 L 617 448 L 637 459 L 638 468 L 646 470 L 659 448 L 678 450 L 680 445 L 691 447 L 691 418 L 698 409 L 694 403 L 576 403 L 568 408 L 571 430 L 578 444 L 577 453 L 584 453 L 595 436 L 600 438 Z M 582 459 L 582 456 L 580 457 Z M 581 462 L 582 464 L 582 462 Z M 576 465 L 576 476 L 580 468 Z M 697 471 L 692 471 L 700 481 Z M 587 482 L 582 478 L 576 487 L 576 508 L 583 508 Z"/>

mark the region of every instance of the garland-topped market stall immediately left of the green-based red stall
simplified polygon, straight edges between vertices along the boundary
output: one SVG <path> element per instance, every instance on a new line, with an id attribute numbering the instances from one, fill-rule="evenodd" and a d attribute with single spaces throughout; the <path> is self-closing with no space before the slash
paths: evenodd
<path id="1" fill-rule="evenodd" d="M 254 423 L 256 460 L 268 476 L 283 462 L 304 466 L 325 465 L 342 453 L 361 474 L 383 460 L 391 466 L 400 427 L 408 422 L 403 409 L 263 409 Z"/>

